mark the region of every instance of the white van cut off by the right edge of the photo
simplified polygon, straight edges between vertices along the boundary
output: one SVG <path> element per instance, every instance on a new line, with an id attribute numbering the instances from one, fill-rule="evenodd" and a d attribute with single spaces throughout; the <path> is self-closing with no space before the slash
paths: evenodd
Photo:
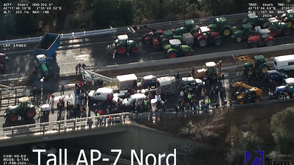
<path id="1" fill-rule="evenodd" d="M 274 69 L 278 71 L 294 70 L 294 54 L 275 57 Z"/>

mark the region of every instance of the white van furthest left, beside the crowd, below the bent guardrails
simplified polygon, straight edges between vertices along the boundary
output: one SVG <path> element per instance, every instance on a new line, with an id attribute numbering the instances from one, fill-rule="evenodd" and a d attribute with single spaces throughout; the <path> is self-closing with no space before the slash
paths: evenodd
<path id="1" fill-rule="evenodd" d="M 112 88 L 98 88 L 97 90 L 91 90 L 89 92 L 89 97 L 91 101 L 93 100 L 99 100 L 99 101 L 105 101 L 107 99 L 107 95 L 111 96 L 111 99 L 113 97 L 113 89 Z"/>

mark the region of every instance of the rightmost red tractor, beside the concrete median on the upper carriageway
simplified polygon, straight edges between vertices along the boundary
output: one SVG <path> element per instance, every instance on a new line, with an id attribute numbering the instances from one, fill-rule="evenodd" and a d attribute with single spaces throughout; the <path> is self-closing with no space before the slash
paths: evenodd
<path id="1" fill-rule="evenodd" d="M 274 45 L 274 38 L 270 35 L 268 29 L 261 29 L 260 26 L 256 26 L 255 32 L 257 35 L 249 37 L 247 41 L 251 48 Z"/>

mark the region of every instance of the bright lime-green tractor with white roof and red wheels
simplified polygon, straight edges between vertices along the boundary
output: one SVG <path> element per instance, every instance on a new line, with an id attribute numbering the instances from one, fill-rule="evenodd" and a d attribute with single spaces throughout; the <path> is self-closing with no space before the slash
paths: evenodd
<path id="1" fill-rule="evenodd" d="M 165 47 L 166 56 L 169 58 L 176 58 L 178 56 L 191 56 L 193 50 L 188 45 L 181 45 L 178 39 L 169 40 L 169 45 Z"/>

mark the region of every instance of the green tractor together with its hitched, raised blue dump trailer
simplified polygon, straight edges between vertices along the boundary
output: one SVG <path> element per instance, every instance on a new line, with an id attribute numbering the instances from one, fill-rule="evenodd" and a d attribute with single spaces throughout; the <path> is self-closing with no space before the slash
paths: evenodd
<path id="1" fill-rule="evenodd" d="M 34 49 L 34 75 L 51 77 L 60 75 L 60 67 L 56 59 L 56 50 L 60 46 L 60 34 L 45 33 Z"/>

